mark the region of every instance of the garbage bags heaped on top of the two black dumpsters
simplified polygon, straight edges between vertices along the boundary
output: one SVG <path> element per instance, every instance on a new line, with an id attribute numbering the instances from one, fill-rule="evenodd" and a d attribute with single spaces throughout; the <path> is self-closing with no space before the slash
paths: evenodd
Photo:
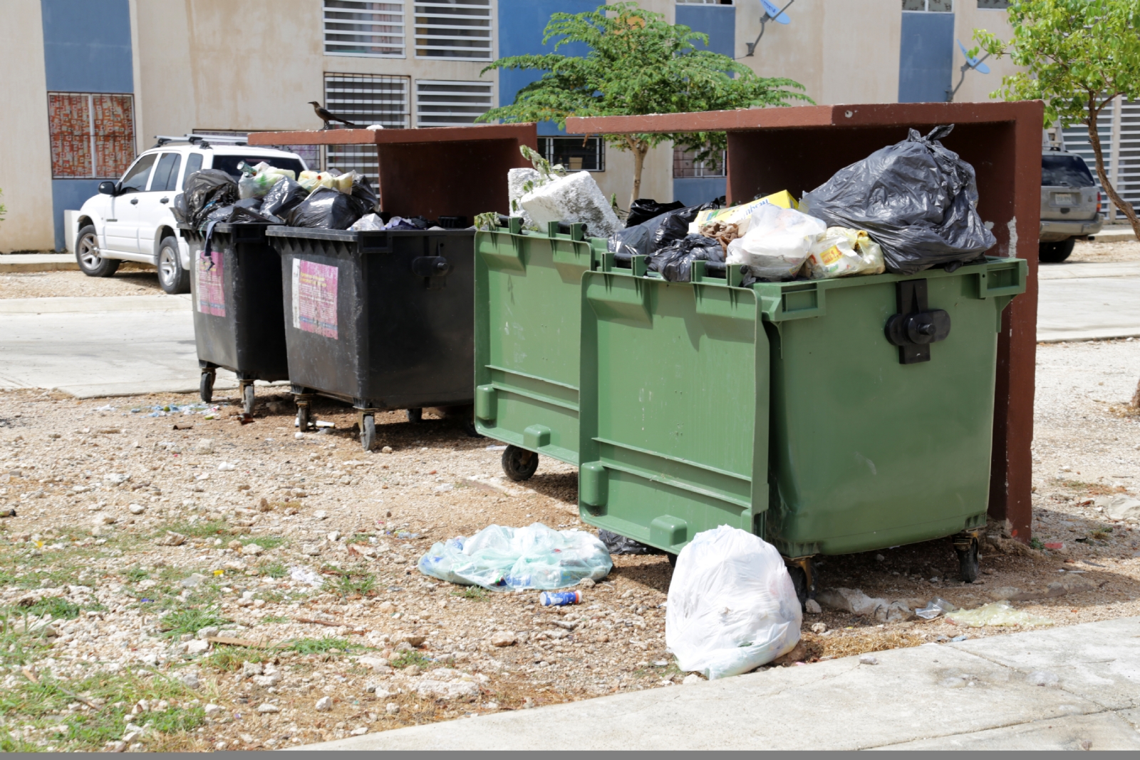
<path id="1" fill-rule="evenodd" d="M 210 223 L 284 224 L 317 229 L 348 229 L 380 212 L 375 191 L 364 175 L 349 171 L 278 169 L 262 161 L 238 164 L 234 181 L 225 171 L 205 169 L 174 196 L 174 218 L 202 229 Z"/>

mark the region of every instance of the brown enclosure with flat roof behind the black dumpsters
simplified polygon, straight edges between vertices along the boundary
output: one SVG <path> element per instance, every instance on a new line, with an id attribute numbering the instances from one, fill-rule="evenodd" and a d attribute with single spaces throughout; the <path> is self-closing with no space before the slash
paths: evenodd
<path id="1" fill-rule="evenodd" d="M 252 132 L 250 145 L 375 145 L 377 195 L 389 213 L 427 218 L 506 212 L 508 169 L 529 168 L 519 147 L 538 148 L 535 124 L 431 129 Z"/>

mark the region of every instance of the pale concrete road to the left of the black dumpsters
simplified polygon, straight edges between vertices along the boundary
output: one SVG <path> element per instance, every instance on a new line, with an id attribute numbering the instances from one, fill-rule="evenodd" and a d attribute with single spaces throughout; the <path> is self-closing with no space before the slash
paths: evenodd
<path id="1" fill-rule="evenodd" d="M 189 296 L 0 299 L 0 387 L 79 398 L 198 389 Z M 214 388 L 237 387 L 219 371 Z"/>

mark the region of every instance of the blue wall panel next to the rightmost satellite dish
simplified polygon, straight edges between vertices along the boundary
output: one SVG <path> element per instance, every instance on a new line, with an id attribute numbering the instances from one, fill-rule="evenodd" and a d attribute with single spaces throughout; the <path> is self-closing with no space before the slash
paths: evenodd
<path id="1" fill-rule="evenodd" d="M 944 103 L 954 68 L 954 14 L 904 13 L 898 102 Z"/>

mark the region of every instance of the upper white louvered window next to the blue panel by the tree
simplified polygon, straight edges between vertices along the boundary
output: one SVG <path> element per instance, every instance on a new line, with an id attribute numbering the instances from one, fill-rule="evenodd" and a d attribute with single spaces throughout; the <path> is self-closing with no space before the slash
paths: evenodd
<path id="1" fill-rule="evenodd" d="M 491 0 L 415 3 L 417 58 L 491 59 Z"/>

